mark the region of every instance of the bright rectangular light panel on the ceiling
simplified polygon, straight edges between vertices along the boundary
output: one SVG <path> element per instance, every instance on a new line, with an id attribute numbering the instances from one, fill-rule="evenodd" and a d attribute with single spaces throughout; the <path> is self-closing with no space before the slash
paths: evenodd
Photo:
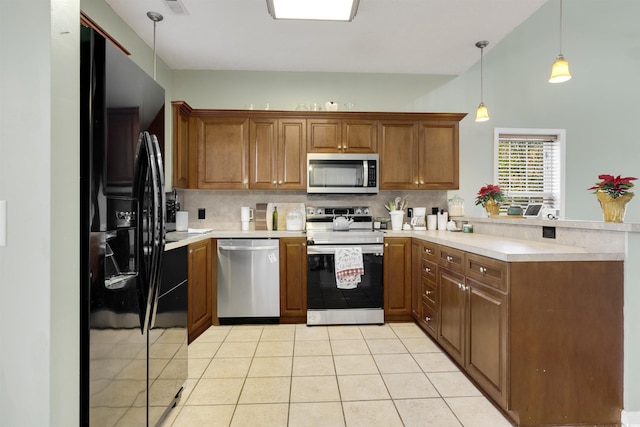
<path id="1" fill-rule="evenodd" d="M 360 0 L 267 0 L 273 19 L 351 21 Z"/>

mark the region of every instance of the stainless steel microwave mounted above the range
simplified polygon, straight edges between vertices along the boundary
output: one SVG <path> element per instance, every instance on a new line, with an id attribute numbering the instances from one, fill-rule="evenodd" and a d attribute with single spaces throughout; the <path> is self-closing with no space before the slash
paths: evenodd
<path id="1" fill-rule="evenodd" d="M 378 193 L 377 154 L 307 154 L 307 193 Z"/>

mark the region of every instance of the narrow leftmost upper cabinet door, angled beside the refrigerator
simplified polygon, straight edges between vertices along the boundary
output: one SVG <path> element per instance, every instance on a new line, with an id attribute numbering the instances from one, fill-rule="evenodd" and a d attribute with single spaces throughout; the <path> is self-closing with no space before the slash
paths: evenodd
<path id="1" fill-rule="evenodd" d="M 189 108 L 174 102 L 173 108 L 173 186 L 189 188 Z"/>

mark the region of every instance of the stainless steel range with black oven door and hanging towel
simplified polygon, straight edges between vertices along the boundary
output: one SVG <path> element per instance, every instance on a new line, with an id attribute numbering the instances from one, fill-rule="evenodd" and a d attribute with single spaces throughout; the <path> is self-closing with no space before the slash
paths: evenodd
<path id="1" fill-rule="evenodd" d="M 307 208 L 307 325 L 384 323 L 383 233 L 369 208 Z"/>

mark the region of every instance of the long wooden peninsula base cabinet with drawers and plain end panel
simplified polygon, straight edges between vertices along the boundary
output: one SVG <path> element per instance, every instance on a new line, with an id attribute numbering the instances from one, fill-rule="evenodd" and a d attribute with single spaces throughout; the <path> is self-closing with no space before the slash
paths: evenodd
<path id="1" fill-rule="evenodd" d="M 430 242 L 412 248 L 413 298 L 422 292 L 414 319 L 516 425 L 619 423 L 621 261 L 503 262 Z"/>

